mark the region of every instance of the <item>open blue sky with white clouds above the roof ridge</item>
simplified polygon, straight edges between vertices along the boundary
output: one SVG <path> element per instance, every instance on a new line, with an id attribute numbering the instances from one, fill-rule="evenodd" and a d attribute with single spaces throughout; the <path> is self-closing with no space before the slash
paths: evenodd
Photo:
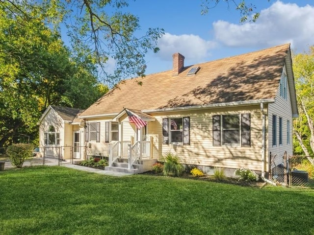
<path id="1" fill-rule="evenodd" d="M 261 13 L 257 23 L 240 24 L 240 13 L 225 2 L 201 15 L 202 0 L 130 1 L 128 11 L 139 17 L 142 33 L 149 27 L 165 30 L 160 51 L 146 56 L 146 73 L 171 70 L 175 52 L 188 66 L 285 43 L 296 52 L 314 45 L 313 0 L 247 2 Z"/>

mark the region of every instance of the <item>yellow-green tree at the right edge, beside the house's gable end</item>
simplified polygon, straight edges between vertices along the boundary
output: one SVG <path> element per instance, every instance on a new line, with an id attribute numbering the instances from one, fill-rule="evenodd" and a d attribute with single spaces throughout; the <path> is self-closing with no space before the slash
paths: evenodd
<path id="1" fill-rule="evenodd" d="M 314 153 L 314 46 L 293 56 L 293 72 L 299 108 L 299 118 L 293 124 L 295 149 L 309 156 Z"/>

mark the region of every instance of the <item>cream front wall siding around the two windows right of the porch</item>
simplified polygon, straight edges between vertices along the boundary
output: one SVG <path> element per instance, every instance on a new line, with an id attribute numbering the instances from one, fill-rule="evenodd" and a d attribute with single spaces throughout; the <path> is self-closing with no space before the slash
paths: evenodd
<path id="1" fill-rule="evenodd" d="M 224 114 L 251 114 L 251 147 L 239 145 L 213 146 L 212 116 Z M 190 117 L 190 145 L 162 144 L 162 118 Z M 214 167 L 249 167 L 261 170 L 262 115 L 260 106 L 184 111 L 155 116 L 157 121 L 150 123 L 149 134 L 159 136 L 159 155 L 176 153 L 183 164 L 196 164 Z"/>

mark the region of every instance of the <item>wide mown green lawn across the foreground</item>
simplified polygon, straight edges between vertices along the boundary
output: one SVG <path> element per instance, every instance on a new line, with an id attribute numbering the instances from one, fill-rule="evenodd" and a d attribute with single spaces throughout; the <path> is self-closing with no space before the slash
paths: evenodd
<path id="1" fill-rule="evenodd" d="M 311 235 L 313 225 L 313 189 L 62 166 L 0 172 L 1 235 Z"/>

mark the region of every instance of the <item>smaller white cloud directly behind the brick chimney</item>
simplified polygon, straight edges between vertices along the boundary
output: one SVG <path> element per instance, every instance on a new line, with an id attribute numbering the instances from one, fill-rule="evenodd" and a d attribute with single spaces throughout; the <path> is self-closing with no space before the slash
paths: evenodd
<path id="1" fill-rule="evenodd" d="M 158 41 L 157 46 L 160 50 L 157 56 L 162 60 L 172 60 L 173 53 L 179 52 L 188 59 L 196 62 L 202 62 L 209 56 L 209 49 L 215 47 L 212 41 L 205 41 L 197 35 L 183 34 L 173 35 L 165 33 Z"/>

